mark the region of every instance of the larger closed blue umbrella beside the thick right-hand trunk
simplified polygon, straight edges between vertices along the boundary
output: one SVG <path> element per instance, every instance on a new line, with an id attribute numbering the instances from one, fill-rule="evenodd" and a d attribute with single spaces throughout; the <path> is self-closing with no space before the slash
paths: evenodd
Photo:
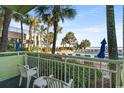
<path id="1" fill-rule="evenodd" d="M 104 38 L 101 42 L 100 52 L 97 55 L 98 58 L 105 58 L 105 45 L 106 45 L 106 40 Z"/>

